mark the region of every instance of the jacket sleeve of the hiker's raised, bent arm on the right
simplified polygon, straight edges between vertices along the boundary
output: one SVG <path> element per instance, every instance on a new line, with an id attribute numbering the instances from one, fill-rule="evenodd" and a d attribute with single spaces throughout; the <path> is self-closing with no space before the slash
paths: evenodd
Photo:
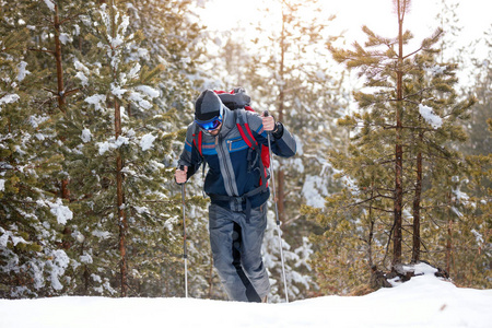
<path id="1" fill-rule="evenodd" d="M 250 112 L 246 112 L 246 115 L 249 128 L 255 134 L 258 143 L 268 147 L 268 133 L 263 129 L 261 117 Z M 276 133 L 271 133 L 270 138 L 271 151 L 281 157 L 291 157 L 295 155 L 297 147 L 294 137 L 291 132 L 289 132 L 283 124 L 277 122 L 277 127 L 278 131 Z"/>

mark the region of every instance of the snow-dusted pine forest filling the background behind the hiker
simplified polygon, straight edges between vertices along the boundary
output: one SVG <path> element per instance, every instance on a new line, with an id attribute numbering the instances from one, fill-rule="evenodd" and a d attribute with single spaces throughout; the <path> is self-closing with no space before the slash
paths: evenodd
<path id="1" fill-rule="evenodd" d="M 411 1 L 388 0 L 387 35 L 348 45 L 321 2 L 266 3 L 251 34 L 208 30 L 208 1 L 1 1 L 0 297 L 184 296 L 173 174 L 195 97 L 235 86 L 298 143 L 274 159 L 291 300 L 366 293 L 422 260 L 491 288 L 492 26 L 458 46 L 458 2 L 441 1 L 415 40 Z M 201 186 L 186 186 L 189 291 L 225 298 Z"/>

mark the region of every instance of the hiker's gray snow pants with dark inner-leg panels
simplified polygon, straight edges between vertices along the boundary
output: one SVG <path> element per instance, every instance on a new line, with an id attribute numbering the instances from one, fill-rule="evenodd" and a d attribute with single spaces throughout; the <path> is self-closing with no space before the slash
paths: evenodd
<path id="1" fill-rule="evenodd" d="M 248 222 L 249 221 L 249 222 Z M 261 258 L 267 204 L 251 209 L 249 220 L 216 204 L 209 207 L 213 266 L 232 301 L 260 302 L 270 291 Z"/>

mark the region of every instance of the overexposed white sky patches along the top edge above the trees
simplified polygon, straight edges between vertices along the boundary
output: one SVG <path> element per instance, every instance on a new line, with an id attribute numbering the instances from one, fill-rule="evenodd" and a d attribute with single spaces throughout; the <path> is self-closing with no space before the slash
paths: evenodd
<path id="1" fill-rule="evenodd" d="M 201 20 L 210 30 L 226 31 L 241 24 L 247 27 L 249 21 L 258 17 L 257 8 L 265 7 L 266 0 L 208 0 Z M 455 0 L 446 0 L 454 2 Z M 327 16 L 337 15 L 335 25 L 347 30 L 345 37 L 351 43 L 361 38 L 362 25 L 374 32 L 394 37 L 396 16 L 393 14 L 393 0 L 320 0 L 326 7 Z M 459 0 L 459 22 L 464 26 L 461 45 L 483 36 L 483 32 L 492 25 L 492 1 Z M 429 37 L 437 27 L 436 15 L 441 0 L 413 0 L 412 10 L 406 17 L 403 27 L 413 32 L 415 40 Z"/>

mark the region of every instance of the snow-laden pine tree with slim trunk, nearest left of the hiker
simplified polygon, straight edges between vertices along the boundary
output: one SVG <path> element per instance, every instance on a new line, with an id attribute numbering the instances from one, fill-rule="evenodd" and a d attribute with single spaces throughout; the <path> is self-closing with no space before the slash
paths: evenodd
<path id="1" fill-rule="evenodd" d="M 81 184 L 78 203 L 91 218 L 80 221 L 77 233 L 84 235 L 81 262 L 99 266 L 85 266 L 82 273 L 92 277 L 86 283 L 95 284 L 93 292 L 105 286 L 114 293 L 109 284 L 118 277 L 126 296 L 147 290 L 145 278 L 161 280 L 163 261 L 174 261 L 166 254 L 177 246 L 172 234 L 179 211 L 164 189 L 172 173 L 161 163 L 174 137 L 166 132 L 168 115 L 136 115 L 155 110 L 152 99 L 160 92 L 149 84 L 155 84 L 162 68 L 141 67 L 133 56 L 139 34 L 128 33 L 129 17 L 103 4 L 93 19 L 97 28 L 91 42 L 98 51 L 93 62 L 74 63 L 85 98 L 81 109 L 69 113 L 71 128 L 79 130 L 70 147 L 79 150 L 71 157 L 72 176 Z M 153 251 L 144 251 L 148 245 Z M 118 270 L 99 270 L 104 262 L 119 262 Z"/>

